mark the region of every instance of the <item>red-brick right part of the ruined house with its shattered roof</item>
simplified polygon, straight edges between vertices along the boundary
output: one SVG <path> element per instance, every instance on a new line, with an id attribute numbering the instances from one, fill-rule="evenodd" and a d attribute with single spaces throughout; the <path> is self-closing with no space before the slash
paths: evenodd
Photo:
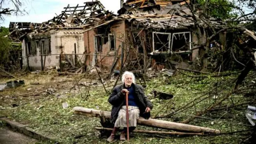
<path id="1" fill-rule="evenodd" d="M 116 69 L 126 66 L 126 70 L 145 70 L 151 66 L 161 70 L 166 58 L 193 61 L 199 50 L 193 50 L 198 38 L 189 2 L 127 0 L 118 16 L 84 27 L 86 51 L 95 54 L 89 56 L 87 64 L 107 69 L 116 64 Z M 216 29 L 222 26 L 213 18 L 208 22 Z M 207 29 L 204 22 L 200 25 Z M 202 39 L 206 42 L 206 36 Z"/>

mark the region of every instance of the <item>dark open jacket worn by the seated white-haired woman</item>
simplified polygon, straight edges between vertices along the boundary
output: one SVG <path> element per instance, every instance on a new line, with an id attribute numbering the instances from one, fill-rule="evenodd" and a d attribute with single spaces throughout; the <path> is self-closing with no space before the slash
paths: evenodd
<path id="1" fill-rule="evenodd" d="M 145 96 L 144 88 L 142 86 L 139 86 L 138 84 L 132 84 L 132 86 L 134 86 L 135 97 L 137 98 L 136 101 L 140 109 L 140 116 L 148 119 L 150 117 L 150 112 L 146 113 L 145 110 L 146 110 L 146 107 L 149 107 L 150 109 L 152 109 L 153 104 L 150 102 L 150 100 L 148 100 L 148 97 Z M 116 86 L 112 94 L 110 94 L 108 98 L 108 102 L 112 104 L 112 110 L 111 110 L 112 123 L 116 122 L 120 108 L 123 105 L 125 105 L 124 104 L 125 94 L 121 92 L 122 89 L 124 89 L 124 84 Z"/>

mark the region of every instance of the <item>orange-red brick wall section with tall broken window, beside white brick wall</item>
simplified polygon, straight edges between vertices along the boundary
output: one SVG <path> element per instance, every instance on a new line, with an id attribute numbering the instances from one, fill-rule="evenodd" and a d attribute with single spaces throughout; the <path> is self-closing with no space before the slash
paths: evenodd
<path id="1" fill-rule="evenodd" d="M 108 34 L 114 34 L 115 50 L 110 50 L 111 40 L 109 39 Z M 101 38 L 103 40 L 99 42 L 99 39 Z M 106 69 L 111 68 L 112 63 L 114 61 L 115 52 L 117 52 L 119 46 L 122 46 L 122 42 L 124 42 L 124 39 L 125 39 L 125 23 L 123 20 L 110 23 L 107 26 L 102 26 L 100 29 L 95 28 L 92 30 L 88 30 L 87 32 L 84 32 L 84 46 L 86 47 L 87 53 L 113 56 L 113 57 L 96 56 L 97 61 L 95 65 L 100 66 L 101 68 L 106 68 Z M 99 46 L 100 48 L 98 48 Z M 98 48 L 98 50 L 101 50 L 101 49 L 102 50 L 97 52 L 96 48 Z M 120 57 L 120 55 L 121 55 L 121 48 L 118 51 L 118 56 Z M 89 64 L 90 66 L 92 66 L 94 58 L 95 56 L 92 56 L 92 55 L 88 56 L 88 60 L 86 64 Z M 120 59 L 116 65 L 116 68 L 117 69 L 120 68 Z"/>

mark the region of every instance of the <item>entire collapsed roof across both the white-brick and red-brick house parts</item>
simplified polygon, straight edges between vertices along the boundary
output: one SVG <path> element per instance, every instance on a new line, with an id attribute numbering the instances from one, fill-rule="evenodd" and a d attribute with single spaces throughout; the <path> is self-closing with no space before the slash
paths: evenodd
<path id="1" fill-rule="evenodd" d="M 37 34 L 53 29 L 64 28 L 89 28 L 87 30 L 90 30 L 98 26 L 109 24 L 114 20 L 122 19 L 128 20 L 128 22 L 131 22 L 137 27 L 143 26 L 145 28 L 155 29 L 187 28 L 195 24 L 193 18 L 198 19 L 201 26 L 208 26 L 209 24 L 211 24 L 213 28 L 223 26 L 221 22 L 214 18 L 204 19 L 199 18 L 197 13 L 192 14 L 187 5 L 189 3 L 190 0 L 126 0 L 123 7 L 118 10 L 119 15 L 116 16 L 112 12 L 105 10 L 101 2 L 96 0 L 84 2 L 82 6 L 78 4 L 76 6 L 70 6 L 68 4 L 61 14 L 56 14 L 54 18 L 47 22 L 42 22 L 41 24 L 22 24 L 23 28 L 27 28 L 25 34 Z M 30 24 L 30 26 L 28 26 L 28 24 Z M 20 31 L 17 28 L 10 27 L 10 33 L 13 33 L 14 30 Z M 24 34 L 22 36 L 24 36 Z"/>

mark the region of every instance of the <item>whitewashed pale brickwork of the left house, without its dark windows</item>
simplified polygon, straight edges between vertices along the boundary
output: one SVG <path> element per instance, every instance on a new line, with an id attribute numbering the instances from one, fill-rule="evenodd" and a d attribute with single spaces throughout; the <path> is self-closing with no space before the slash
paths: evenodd
<path id="1" fill-rule="evenodd" d="M 29 66 L 34 69 L 41 69 L 42 62 L 45 66 L 59 66 L 60 56 L 59 54 L 63 51 L 64 54 L 74 54 L 74 44 L 76 43 L 76 53 L 83 54 L 84 52 L 84 37 L 83 34 L 79 34 L 82 30 L 52 30 L 50 31 L 50 40 L 51 43 L 49 45 L 49 39 L 38 39 L 39 42 L 44 40 L 45 48 L 49 48 L 51 46 L 51 53 L 47 56 L 40 56 L 41 48 L 37 49 L 36 56 L 29 56 L 28 62 Z M 34 40 L 35 41 L 35 40 Z M 26 42 L 22 42 L 22 56 L 26 56 Z M 61 48 L 61 46 L 63 48 Z M 27 66 L 27 59 L 23 57 L 23 65 Z"/>

